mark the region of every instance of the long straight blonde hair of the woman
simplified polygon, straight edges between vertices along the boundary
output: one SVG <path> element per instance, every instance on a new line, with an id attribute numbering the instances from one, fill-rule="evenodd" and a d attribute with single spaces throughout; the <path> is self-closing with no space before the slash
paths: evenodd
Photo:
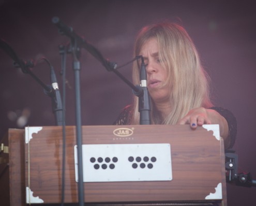
<path id="1" fill-rule="evenodd" d="M 142 28 L 134 45 L 134 56 L 140 55 L 142 46 L 152 38 L 159 45 L 159 59 L 167 74 L 172 110 L 161 119 L 152 102 L 152 124 L 176 124 L 191 109 L 211 107 L 208 75 L 204 71 L 197 49 L 186 30 L 175 23 L 160 23 Z M 138 62 L 133 63 L 132 78 L 139 84 Z M 139 124 L 138 97 L 134 97 L 131 124 Z"/>

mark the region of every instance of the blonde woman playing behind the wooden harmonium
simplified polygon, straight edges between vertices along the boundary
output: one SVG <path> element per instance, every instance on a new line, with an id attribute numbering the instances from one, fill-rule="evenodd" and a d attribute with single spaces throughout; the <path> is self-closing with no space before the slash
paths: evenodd
<path id="1" fill-rule="evenodd" d="M 134 56 L 142 55 L 147 88 L 152 101 L 152 124 L 219 124 L 225 148 L 235 142 L 236 119 L 231 112 L 213 107 L 208 76 L 197 49 L 185 29 L 174 23 L 144 27 L 135 41 Z M 140 61 L 134 62 L 132 78 L 140 83 Z M 138 97 L 124 109 L 116 125 L 139 124 Z"/>

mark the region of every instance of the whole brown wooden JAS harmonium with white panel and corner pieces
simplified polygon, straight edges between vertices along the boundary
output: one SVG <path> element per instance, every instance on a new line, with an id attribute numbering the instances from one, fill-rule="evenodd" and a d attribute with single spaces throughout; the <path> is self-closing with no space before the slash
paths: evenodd
<path id="1" fill-rule="evenodd" d="M 76 127 L 66 127 L 65 202 L 78 202 Z M 220 205 L 226 195 L 218 125 L 83 126 L 88 205 Z M 62 127 L 25 128 L 26 203 L 62 199 Z"/>

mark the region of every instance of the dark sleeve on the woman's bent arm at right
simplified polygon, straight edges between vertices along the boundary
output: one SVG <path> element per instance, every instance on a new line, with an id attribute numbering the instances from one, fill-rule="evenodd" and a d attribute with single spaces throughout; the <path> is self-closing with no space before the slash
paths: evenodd
<path id="1" fill-rule="evenodd" d="M 217 111 L 221 116 L 223 116 L 227 120 L 228 126 L 229 126 L 229 135 L 231 137 L 231 143 L 229 148 L 232 148 L 235 144 L 236 132 L 237 132 L 237 123 L 236 123 L 235 116 L 229 110 L 223 109 L 221 107 L 211 107 L 209 109 L 213 109 Z"/>

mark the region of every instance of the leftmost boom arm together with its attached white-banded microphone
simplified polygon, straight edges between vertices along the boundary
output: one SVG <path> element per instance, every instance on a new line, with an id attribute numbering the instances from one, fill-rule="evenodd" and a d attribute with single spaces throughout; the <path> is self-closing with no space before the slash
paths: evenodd
<path id="1" fill-rule="evenodd" d="M 7 55 L 14 61 L 14 66 L 21 68 L 24 74 L 31 75 L 43 88 L 44 93 L 52 98 L 52 110 L 55 115 L 55 124 L 62 125 L 62 100 L 58 92 L 57 80 L 54 74 L 53 67 L 51 68 L 51 81 L 53 85 L 46 85 L 43 83 L 31 70 L 34 67 L 32 61 L 24 61 L 20 59 L 14 50 L 4 40 L 0 39 L 0 47 L 7 53 Z"/>

